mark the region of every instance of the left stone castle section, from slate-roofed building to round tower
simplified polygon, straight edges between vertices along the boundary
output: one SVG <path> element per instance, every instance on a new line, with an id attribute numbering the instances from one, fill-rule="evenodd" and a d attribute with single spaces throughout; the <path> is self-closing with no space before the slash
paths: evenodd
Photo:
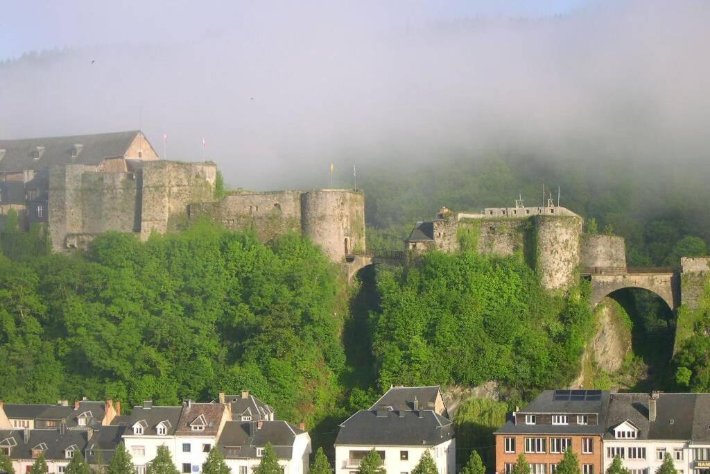
<path id="1" fill-rule="evenodd" d="M 0 140 L 0 230 L 47 225 L 55 252 L 85 248 L 102 232 L 180 230 L 206 217 L 263 239 L 300 232 L 334 262 L 365 249 L 364 194 L 353 190 L 214 196 L 217 166 L 158 157 L 141 131 Z"/>

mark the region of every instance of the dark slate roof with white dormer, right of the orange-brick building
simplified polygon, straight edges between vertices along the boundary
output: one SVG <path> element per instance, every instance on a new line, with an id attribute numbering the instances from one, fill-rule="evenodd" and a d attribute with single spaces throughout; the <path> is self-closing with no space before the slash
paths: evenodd
<path id="1" fill-rule="evenodd" d="M 648 419 L 648 404 L 648 394 L 612 394 L 604 438 L 614 439 L 613 429 L 628 420 L 638 439 L 710 441 L 710 394 L 661 393 L 655 421 Z"/>

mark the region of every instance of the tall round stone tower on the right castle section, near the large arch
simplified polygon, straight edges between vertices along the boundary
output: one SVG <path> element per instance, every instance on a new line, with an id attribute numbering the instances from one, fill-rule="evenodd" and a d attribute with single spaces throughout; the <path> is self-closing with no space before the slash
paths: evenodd
<path id="1" fill-rule="evenodd" d="M 535 270 L 543 288 L 567 290 L 576 283 L 582 224 L 577 215 L 535 216 Z"/>

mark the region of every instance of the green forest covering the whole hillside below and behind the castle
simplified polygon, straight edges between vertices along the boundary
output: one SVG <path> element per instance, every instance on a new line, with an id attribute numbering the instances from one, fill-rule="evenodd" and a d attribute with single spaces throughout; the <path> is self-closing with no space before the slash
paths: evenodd
<path id="1" fill-rule="evenodd" d="M 507 158 L 450 161 L 390 181 L 381 173 L 365 182 L 368 247 L 400 249 L 413 223 L 440 205 L 510 205 L 547 178 L 565 183 L 562 205 L 584 215 L 589 231 L 626 237 L 630 264 L 707 254 L 709 215 L 694 218 L 681 195 L 641 212 L 661 198 L 600 173 Z M 584 281 L 547 293 L 520 256 L 432 252 L 408 267 L 367 267 L 347 285 L 299 235 L 260 242 L 207 222 L 147 242 L 109 232 L 76 254 L 50 254 L 43 230 L 11 222 L 0 244 L 0 399 L 113 398 L 130 407 L 249 389 L 280 419 L 305 421 L 315 447 L 332 448 L 337 424 L 391 384 L 465 392 L 494 381 L 502 402 L 468 397 L 454 419 L 466 440 L 457 455 L 481 448 L 490 460 L 486 443 L 507 409 L 578 379 L 599 321 Z M 674 315 L 659 298 L 618 296 L 615 317 L 631 350 L 616 373 L 592 367 L 584 384 L 710 391 L 707 295 L 675 352 Z M 648 338 L 671 350 L 644 352 Z"/>

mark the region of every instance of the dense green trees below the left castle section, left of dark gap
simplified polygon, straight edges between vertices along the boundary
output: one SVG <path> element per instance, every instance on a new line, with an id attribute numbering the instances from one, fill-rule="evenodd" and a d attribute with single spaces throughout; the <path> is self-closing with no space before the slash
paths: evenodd
<path id="1" fill-rule="evenodd" d="M 337 270 L 310 241 L 210 225 L 109 233 L 84 256 L 0 256 L 0 398 L 177 404 L 250 389 L 284 419 L 332 408 Z"/>

